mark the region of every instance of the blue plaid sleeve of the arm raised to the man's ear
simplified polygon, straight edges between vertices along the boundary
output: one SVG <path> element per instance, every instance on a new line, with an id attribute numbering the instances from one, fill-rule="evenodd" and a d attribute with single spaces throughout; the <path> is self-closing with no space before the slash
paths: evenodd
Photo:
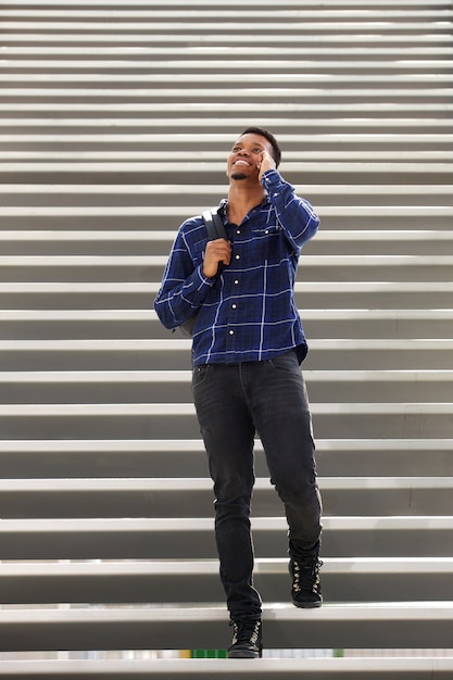
<path id="1" fill-rule="evenodd" d="M 279 224 L 295 250 L 315 236 L 319 217 L 309 201 L 297 196 L 294 187 L 280 173 L 270 169 L 262 177 L 263 187 L 274 205 Z"/>

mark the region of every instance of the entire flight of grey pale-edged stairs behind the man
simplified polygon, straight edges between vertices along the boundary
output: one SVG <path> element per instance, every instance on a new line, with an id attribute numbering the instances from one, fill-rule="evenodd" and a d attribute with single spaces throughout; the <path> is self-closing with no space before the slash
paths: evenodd
<path id="1" fill-rule="evenodd" d="M 0 18 L 0 678 L 451 678 L 452 3 L 15 0 Z M 152 300 L 251 124 L 323 223 L 297 301 L 326 602 L 289 606 L 256 442 L 265 644 L 350 653 L 155 658 L 229 640 L 190 345 Z"/>

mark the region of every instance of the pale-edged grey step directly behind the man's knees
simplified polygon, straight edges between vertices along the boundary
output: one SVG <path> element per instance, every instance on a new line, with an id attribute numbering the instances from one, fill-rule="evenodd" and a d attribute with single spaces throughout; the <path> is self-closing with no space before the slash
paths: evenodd
<path id="1" fill-rule="evenodd" d="M 207 466 L 206 466 L 207 468 Z M 326 515 L 438 515 L 452 512 L 453 477 L 319 478 Z M 175 495 L 178 502 L 175 505 Z M 211 517 L 214 494 L 207 469 L 199 478 L 8 479 L 0 481 L 0 513 L 9 518 Z M 253 513 L 281 514 L 269 480 L 254 486 Z"/>

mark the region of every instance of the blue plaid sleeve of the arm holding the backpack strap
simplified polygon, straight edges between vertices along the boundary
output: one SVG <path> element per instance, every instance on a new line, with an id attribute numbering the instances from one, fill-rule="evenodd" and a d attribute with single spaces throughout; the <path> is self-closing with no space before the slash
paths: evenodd
<path id="1" fill-rule="evenodd" d="M 173 243 L 154 310 L 165 328 L 176 328 L 191 318 L 215 282 L 203 274 L 202 262 L 196 262 L 184 225 Z"/>

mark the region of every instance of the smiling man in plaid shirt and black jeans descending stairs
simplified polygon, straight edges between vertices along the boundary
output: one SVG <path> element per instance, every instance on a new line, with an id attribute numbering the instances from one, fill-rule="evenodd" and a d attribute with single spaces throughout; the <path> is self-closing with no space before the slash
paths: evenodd
<path id="1" fill-rule="evenodd" d="M 291 600 L 298 607 L 322 604 L 322 504 L 300 369 L 307 347 L 293 298 L 300 251 L 319 219 L 278 173 L 280 155 L 269 131 L 242 133 L 228 158 L 228 198 L 218 206 L 228 240 L 207 241 L 202 218 L 187 219 L 154 303 L 166 328 L 198 313 L 192 392 L 214 482 L 221 579 L 234 626 L 229 658 L 262 652 L 249 519 L 255 433 L 288 520 Z"/>

